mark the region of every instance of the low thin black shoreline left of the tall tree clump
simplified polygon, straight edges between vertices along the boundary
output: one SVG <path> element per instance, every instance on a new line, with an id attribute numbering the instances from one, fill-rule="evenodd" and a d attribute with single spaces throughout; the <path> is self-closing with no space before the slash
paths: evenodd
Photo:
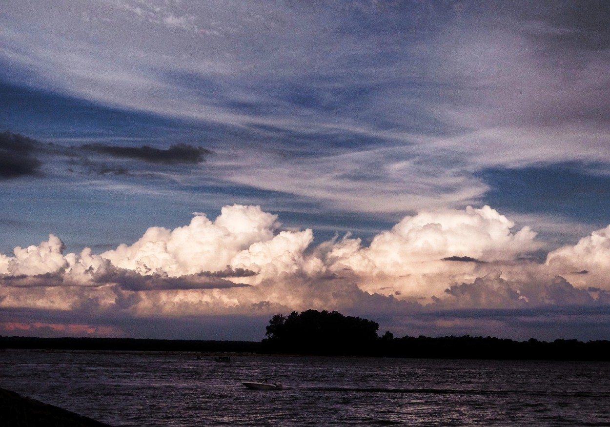
<path id="1" fill-rule="evenodd" d="M 85 351 L 188 351 L 259 353 L 260 342 L 212 340 L 152 340 L 134 338 L 2 337 L 0 348 Z"/>

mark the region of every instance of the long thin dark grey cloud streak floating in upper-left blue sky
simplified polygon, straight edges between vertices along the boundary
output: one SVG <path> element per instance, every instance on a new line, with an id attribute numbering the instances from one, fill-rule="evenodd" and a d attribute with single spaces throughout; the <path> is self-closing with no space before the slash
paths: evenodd
<path id="1" fill-rule="evenodd" d="M 112 157 L 143 160 L 147 163 L 163 163 L 165 165 L 201 163 L 205 161 L 207 155 L 212 154 L 212 151 L 205 148 L 188 144 L 175 144 L 167 149 L 153 148 L 148 145 L 123 147 L 103 144 L 85 144 L 82 148 L 101 154 L 108 154 Z"/>

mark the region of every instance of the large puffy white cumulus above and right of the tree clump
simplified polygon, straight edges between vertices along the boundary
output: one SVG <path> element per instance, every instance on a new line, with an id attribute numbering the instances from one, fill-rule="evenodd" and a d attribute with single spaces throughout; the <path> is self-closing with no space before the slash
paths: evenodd
<path id="1" fill-rule="evenodd" d="M 430 298 L 452 281 L 475 278 L 486 262 L 512 262 L 540 248 L 531 229 L 512 228 L 489 206 L 423 211 L 376 235 L 368 247 L 359 239 L 336 242 L 326 257 L 331 271 L 367 277 L 362 287 L 370 292 Z M 455 257 L 481 262 L 447 262 Z"/>

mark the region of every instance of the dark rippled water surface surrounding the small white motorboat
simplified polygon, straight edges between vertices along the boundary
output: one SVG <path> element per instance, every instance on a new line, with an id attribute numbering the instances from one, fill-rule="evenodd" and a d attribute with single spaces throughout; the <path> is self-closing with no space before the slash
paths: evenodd
<path id="1" fill-rule="evenodd" d="M 610 426 L 604 362 L 7 351 L 0 387 L 116 427 Z"/>

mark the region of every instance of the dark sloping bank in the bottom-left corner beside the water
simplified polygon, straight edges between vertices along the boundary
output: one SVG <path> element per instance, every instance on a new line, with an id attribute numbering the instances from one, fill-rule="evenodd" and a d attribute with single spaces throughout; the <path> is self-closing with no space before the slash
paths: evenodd
<path id="1" fill-rule="evenodd" d="M 0 389 L 0 420 L 4 427 L 110 427 L 5 389 Z"/>

